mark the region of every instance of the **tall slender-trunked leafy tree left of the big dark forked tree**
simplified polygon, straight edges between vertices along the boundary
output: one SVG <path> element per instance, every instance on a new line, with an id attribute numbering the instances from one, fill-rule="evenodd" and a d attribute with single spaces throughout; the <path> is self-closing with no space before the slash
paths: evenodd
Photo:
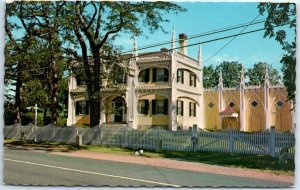
<path id="1" fill-rule="evenodd" d="M 57 94 L 59 80 L 59 63 L 61 60 L 61 39 L 59 38 L 59 15 L 64 2 L 15 2 L 7 4 L 7 14 L 10 17 L 17 17 L 25 30 L 25 35 L 40 38 L 39 42 L 46 44 L 47 51 L 44 54 L 43 66 L 49 67 L 46 75 L 48 89 L 51 95 L 51 118 L 52 123 L 57 122 Z M 13 20 L 13 19 L 11 19 Z M 15 23 L 15 25 L 17 25 Z M 31 57 L 36 60 L 35 57 Z M 39 65 L 38 67 L 41 67 Z"/>

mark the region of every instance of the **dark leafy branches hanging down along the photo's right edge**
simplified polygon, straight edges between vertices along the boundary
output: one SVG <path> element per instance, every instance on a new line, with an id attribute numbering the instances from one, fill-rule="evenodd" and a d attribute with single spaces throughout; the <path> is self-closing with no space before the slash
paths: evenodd
<path id="1" fill-rule="evenodd" d="M 275 38 L 285 51 L 281 59 L 283 64 L 283 83 L 287 87 L 288 99 L 295 101 L 296 91 L 296 4 L 260 3 L 261 15 L 267 14 L 264 37 Z M 287 27 L 278 27 L 287 25 Z M 288 32 L 290 31 L 290 33 Z M 288 37 L 292 34 L 292 40 Z"/>

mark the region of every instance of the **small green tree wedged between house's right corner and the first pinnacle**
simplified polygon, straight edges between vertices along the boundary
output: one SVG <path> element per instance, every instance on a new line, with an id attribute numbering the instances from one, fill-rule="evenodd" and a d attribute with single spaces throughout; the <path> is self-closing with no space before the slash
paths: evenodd
<path id="1" fill-rule="evenodd" d="M 203 67 L 203 87 L 204 88 L 214 88 L 218 85 L 218 73 L 215 68 L 210 66 Z"/>

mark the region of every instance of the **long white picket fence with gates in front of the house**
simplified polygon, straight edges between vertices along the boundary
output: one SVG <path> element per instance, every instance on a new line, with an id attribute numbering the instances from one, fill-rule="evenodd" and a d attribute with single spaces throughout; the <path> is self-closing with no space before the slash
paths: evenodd
<path id="1" fill-rule="evenodd" d="M 23 138 L 39 142 L 76 144 L 78 135 L 82 137 L 83 144 L 136 150 L 210 151 L 279 156 L 280 150 L 286 147 L 289 157 L 294 157 L 295 154 L 295 134 L 278 133 L 274 128 L 266 132 L 245 133 L 234 130 L 173 132 L 159 128 L 141 131 L 127 127 L 61 128 L 51 124 L 45 127 L 35 127 L 32 124 L 4 127 L 6 139 Z"/>

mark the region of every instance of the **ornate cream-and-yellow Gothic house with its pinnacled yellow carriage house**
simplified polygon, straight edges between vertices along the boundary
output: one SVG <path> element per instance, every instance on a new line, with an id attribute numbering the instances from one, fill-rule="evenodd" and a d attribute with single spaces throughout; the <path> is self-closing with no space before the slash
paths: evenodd
<path id="1" fill-rule="evenodd" d="M 161 126 L 169 130 L 197 125 L 202 129 L 236 128 L 261 131 L 274 125 L 280 131 L 292 129 L 291 104 L 283 86 L 270 87 L 268 76 L 263 87 L 246 87 L 244 73 L 238 88 L 203 89 L 201 47 L 198 60 L 187 56 L 187 36 L 179 35 L 176 51 L 175 31 L 172 50 L 137 53 L 136 41 L 124 80 L 112 88 L 103 80 L 100 125 L 127 125 L 133 129 Z M 69 79 L 67 125 L 89 124 L 84 98 L 85 85 L 75 76 Z M 82 94 L 82 95 L 80 95 Z"/>

